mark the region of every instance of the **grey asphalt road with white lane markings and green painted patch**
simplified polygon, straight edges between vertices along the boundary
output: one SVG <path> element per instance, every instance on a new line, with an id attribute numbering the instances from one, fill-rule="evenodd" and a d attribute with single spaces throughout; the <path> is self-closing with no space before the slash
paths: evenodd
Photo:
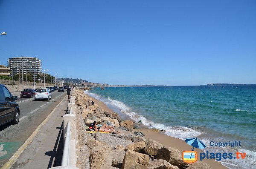
<path id="1" fill-rule="evenodd" d="M 52 99 L 35 101 L 34 98 L 19 98 L 20 121 L 16 125 L 0 126 L 0 168 L 37 129 L 50 112 L 67 95 L 67 92 L 52 92 Z M 68 103 L 68 102 L 67 102 Z M 6 154 L 7 153 L 7 154 Z"/>

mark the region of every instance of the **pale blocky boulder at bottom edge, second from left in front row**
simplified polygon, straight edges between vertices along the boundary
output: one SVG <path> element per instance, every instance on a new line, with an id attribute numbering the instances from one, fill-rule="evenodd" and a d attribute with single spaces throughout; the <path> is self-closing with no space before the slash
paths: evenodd
<path id="1" fill-rule="evenodd" d="M 149 156 L 127 150 L 122 162 L 122 169 L 147 169 L 149 164 Z"/>

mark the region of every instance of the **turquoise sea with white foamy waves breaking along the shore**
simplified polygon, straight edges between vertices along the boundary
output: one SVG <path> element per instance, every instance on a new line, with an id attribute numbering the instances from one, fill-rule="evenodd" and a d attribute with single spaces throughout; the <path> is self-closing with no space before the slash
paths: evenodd
<path id="1" fill-rule="evenodd" d="M 84 92 L 148 128 L 164 129 L 182 140 L 197 137 L 206 144 L 204 152 L 246 153 L 244 159 L 218 158 L 230 169 L 256 169 L 256 86 L 105 87 Z M 240 145 L 232 147 L 234 142 Z"/>

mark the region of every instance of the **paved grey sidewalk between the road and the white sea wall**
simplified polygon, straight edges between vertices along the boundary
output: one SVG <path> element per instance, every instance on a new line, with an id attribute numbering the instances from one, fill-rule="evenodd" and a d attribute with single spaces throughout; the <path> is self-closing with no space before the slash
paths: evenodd
<path id="1" fill-rule="evenodd" d="M 67 113 L 67 96 L 38 134 L 22 152 L 12 169 L 47 169 L 61 165 L 63 153 L 63 115 Z"/>

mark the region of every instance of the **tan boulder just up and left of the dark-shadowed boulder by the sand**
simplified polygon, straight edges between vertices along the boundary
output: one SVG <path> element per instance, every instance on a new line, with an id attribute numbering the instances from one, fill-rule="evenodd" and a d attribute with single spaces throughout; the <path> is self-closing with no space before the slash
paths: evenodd
<path id="1" fill-rule="evenodd" d="M 152 139 L 147 139 L 143 152 L 147 155 L 155 157 L 157 155 L 158 150 L 161 149 L 161 147 L 163 147 L 163 145 L 158 143 L 157 141 Z"/>

